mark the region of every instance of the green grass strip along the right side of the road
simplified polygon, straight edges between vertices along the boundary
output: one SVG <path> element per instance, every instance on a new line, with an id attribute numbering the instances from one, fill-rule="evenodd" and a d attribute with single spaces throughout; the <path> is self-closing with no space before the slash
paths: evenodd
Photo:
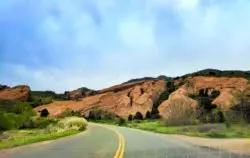
<path id="1" fill-rule="evenodd" d="M 98 123 L 116 125 L 112 121 L 104 120 L 98 121 Z M 124 126 L 162 134 L 180 134 L 205 138 L 250 138 L 249 124 L 233 124 L 229 128 L 225 124 L 165 126 L 160 120 L 143 120 L 126 122 Z"/>

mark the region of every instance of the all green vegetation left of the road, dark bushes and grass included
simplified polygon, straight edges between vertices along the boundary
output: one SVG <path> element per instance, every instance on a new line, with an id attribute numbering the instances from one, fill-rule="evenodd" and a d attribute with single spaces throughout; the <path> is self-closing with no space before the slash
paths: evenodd
<path id="1" fill-rule="evenodd" d="M 57 139 L 86 129 L 84 118 L 41 116 L 27 102 L 0 101 L 0 149 Z"/>

